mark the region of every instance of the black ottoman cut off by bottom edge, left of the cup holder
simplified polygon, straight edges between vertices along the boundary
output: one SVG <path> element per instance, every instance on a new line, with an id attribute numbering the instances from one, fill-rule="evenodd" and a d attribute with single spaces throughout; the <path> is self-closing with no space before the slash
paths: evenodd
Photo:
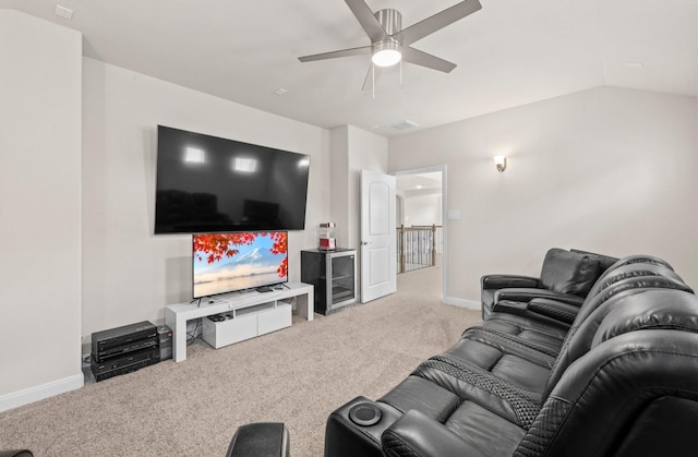
<path id="1" fill-rule="evenodd" d="M 242 425 L 230 441 L 226 457 L 289 457 L 288 429 L 282 423 Z"/>

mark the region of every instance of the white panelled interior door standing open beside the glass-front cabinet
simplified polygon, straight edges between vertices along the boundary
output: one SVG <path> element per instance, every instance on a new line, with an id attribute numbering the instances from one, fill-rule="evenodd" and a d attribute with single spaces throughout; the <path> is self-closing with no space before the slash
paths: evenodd
<path id="1" fill-rule="evenodd" d="M 361 302 L 397 290 L 395 177 L 361 171 Z"/>

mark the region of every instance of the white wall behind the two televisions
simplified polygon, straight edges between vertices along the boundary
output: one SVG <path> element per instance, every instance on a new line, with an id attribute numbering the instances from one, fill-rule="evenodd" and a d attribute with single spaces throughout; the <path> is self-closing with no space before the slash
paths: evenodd
<path id="1" fill-rule="evenodd" d="M 153 234 L 156 127 L 311 155 L 304 231 L 289 234 L 289 277 L 329 217 L 329 132 L 84 59 L 83 337 L 188 301 L 191 236 Z"/>

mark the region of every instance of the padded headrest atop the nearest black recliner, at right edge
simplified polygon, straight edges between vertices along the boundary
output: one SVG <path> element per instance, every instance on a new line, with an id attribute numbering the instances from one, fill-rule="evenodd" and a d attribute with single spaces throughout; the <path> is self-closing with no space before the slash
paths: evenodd
<path id="1" fill-rule="evenodd" d="M 660 328 L 698 333 L 698 297 L 671 289 L 633 294 L 623 306 L 611 306 L 591 347 L 628 332 Z"/>

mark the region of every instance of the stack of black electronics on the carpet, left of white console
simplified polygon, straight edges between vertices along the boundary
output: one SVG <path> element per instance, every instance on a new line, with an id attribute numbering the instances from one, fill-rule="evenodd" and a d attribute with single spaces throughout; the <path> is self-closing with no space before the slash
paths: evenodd
<path id="1" fill-rule="evenodd" d="M 158 328 L 144 321 L 92 334 L 91 368 L 97 382 L 160 361 Z"/>

